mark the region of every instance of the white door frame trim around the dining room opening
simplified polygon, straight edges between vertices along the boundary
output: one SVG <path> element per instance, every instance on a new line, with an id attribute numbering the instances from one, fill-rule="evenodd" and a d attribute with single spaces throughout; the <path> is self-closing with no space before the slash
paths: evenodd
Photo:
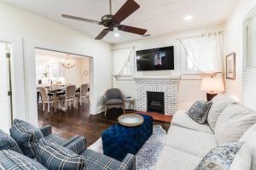
<path id="1" fill-rule="evenodd" d="M 96 113 L 96 88 L 95 88 L 95 71 L 94 58 L 85 54 L 79 48 L 68 48 L 58 46 L 51 42 L 39 42 L 32 39 L 23 39 L 24 47 L 24 71 L 26 80 L 26 107 L 27 119 L 33 125 L 38 126 L 38 105 L 37 105 L 37 82 L 36 82 L 36 56 L 35 49 L 43 48 L 67 54 L 76 54 L 80 56 L 90 57 L 90 114 Z"/>

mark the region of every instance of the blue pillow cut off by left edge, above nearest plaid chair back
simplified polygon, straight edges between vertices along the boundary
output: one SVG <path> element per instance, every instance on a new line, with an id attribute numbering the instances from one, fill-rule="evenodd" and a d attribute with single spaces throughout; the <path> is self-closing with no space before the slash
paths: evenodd
<path id="1" fill-rule="evenodd" d="M 22 151 L 20 150 L 20 146 L 15 142 L 15 139 L 9 136 L 8 133 L 3 132 L 0 129 L 0 150 L 14 150 L 20 154 Z"/>

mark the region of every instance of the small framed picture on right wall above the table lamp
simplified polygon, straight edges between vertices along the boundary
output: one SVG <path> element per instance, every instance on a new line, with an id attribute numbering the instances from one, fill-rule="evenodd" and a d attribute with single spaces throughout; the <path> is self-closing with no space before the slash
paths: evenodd
<path id="1" fill-rule="evenodd" d="M 236 53 L 226 56 L 226 78 L 236 80 Z"/>

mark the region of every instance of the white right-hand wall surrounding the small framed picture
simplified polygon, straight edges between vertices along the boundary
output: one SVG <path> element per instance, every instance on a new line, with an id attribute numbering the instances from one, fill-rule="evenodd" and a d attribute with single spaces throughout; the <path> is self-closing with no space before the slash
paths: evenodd
<path id="1" fill-rule="evenodd" d="M 253 6 L 255 0 L 243 0 L 231 14 L 225 28 L 224 53 L 236 52 L 236 80 L 226 80 L 226 94 L 242 102 L 242 62 L 243 62 L 243 21 Z"/>

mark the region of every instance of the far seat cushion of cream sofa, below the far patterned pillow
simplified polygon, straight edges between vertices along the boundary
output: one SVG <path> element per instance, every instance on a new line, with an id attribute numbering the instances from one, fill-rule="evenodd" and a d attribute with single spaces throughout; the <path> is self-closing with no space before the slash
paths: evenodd
<path id="1" fill-rule="evenodd" d="M 182 110 L 179 110 L 174 114 L 171 125 L 185 127 L 205 133 L 212 133 L 212 129 L 209 127 L 207 122 L 204 124 L 197 123 L 186 114 L 186 111 Z"/>

